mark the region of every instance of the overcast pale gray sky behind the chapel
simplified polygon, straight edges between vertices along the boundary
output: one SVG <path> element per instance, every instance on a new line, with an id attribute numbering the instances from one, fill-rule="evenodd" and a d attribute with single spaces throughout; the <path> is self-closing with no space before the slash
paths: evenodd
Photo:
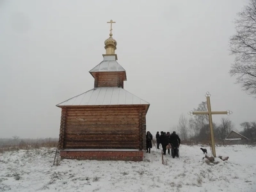
<path id="1" fill-rule="evenodd" d="M 256 120 L 256 100 L 228 74 L 228 40 L 247 2 L 1 0 L 0 138 L 58 137 L 55 105 L 93 88 L 88 71 L 102 61 L 110 19 L 124 88 L 150 103 L 149 131 L 172 131 L 207 91 L 237 129 Z"/>

